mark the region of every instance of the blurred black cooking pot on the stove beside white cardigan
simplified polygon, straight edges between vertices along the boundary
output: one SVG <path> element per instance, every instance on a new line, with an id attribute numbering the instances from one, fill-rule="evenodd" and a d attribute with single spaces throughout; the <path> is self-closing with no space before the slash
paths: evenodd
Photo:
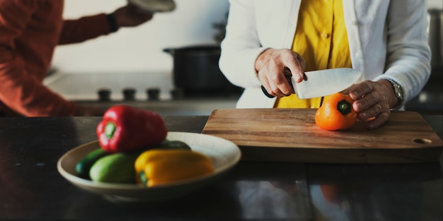
<path id="1" fill-rule="evenodd" d="M 220 51 L 217 45 L 163 49 L 173 56 L 176 88 L 183 88 L 185 92 L 212 92 L 231 87 L 219 69 Z"/>

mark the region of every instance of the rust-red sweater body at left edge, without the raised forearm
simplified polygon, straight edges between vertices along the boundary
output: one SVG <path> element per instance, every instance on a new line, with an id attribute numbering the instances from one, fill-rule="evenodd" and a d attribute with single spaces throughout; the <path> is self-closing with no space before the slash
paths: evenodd
<path id="1" fill-rule="evenodd" d="M 27 117 L 76 112 L 74 103 L 42 84 L 58 41 L 62 10 L 63 1 L 0 1 L 0 108 L 6 105 Z"/>

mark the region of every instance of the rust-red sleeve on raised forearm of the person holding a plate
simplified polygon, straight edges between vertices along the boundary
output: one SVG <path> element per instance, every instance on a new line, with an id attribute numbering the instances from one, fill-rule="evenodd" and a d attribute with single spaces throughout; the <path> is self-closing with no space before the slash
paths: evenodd
<path id="1" fill-rule="evenodd" d="M 64 20 L 59 44 L 84 42 L 108 34 L 110 34 L 110 24 L 104 13 L 76 20 Z"/>

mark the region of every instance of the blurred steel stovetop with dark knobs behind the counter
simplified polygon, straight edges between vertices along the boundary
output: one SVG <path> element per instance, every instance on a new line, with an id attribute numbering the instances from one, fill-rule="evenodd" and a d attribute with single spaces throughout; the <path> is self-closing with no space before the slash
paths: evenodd
<path id="1" fill-rule="evenodd" d="M 115 104 L 162 115 L 209 115 L 236 107 L 241 90 L 186 91 L 174 88 L 165 73 L 53 73 L 45 85 L 67 100 L 108 109 Z"/>

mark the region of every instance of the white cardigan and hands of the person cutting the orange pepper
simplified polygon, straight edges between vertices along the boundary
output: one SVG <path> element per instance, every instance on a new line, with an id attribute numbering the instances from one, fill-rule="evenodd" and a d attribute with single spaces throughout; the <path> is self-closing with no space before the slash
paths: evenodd
<path id="1" fill-rule="evenodd" d="M 294 93 L 284 68 L 298 82 L 304 76 L 305 60 L 292 50 L 297 24 L 304 22 L 299 18 L 301 0 L 229 2 L 219 67 L 231 83 L 245 88 L 236 107 L 275 107 L 276 99 Z M 403 109 L 418 95 L 430 76 L 427 4 L 343 0 L 343 18 L 350 63 L 362 71 L 345 93 L 355 100 L 357 117 L 371 119 L 367 129 L 376 129 L 389 121 L 391 109 Z M 275 98 L 266 97 L 261 85 Z"/>

